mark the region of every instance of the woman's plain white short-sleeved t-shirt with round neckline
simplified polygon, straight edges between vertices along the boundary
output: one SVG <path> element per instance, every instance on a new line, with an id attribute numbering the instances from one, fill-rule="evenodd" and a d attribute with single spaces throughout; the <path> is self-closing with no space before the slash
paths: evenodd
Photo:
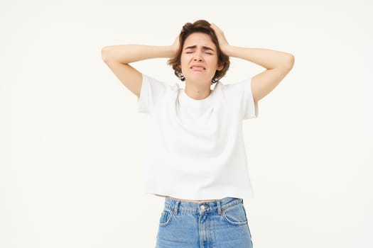
<path id="1" fill-rule="evenodd" d="M 258 108 L 250 79 L 218 82 L 195 100 L 178 84 L 143 74 L 138 111 L 151 115 L 144 191 L 188 200 L 252 198 L 242 120 Z"/>

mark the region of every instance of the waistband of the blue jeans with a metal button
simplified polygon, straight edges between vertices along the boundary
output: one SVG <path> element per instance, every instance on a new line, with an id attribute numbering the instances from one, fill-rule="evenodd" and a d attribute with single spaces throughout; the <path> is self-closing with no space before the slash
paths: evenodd
<path id="1" fill-rule="evenodd" d="M 190 201 L 180 201 L 173 198 L 165 199 L 165 208 L 171 210 L 171 213 L 177 215 L 178 213 L 211 213 L 217 212 L 218 215 L 222 214 L 222 210 L 243 203 L 242 198 L 226 197 L 216 201 L 194 203 Z"/>

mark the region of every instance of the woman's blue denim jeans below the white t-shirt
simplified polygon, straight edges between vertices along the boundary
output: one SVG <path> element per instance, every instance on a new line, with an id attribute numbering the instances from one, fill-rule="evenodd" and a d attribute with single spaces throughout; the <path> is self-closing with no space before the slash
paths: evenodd
<path id="1" fill-rule="evenodd" d="M 252 248 L 241 198 L 193 203 L 165 199 L 156 248 Z"/>

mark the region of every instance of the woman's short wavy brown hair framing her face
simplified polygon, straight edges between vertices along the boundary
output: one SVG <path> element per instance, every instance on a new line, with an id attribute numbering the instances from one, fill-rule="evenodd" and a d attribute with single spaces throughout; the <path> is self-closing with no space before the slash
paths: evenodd
<path id="1" fill-rule="evenodd" d="M 207 35 L 210 35 L 212 42 L 215 44 L 217 48 L 217 63 L 223 64 L 223 68 L 220 71 L 217 70 L 215 72 L 211 84 L 215 84 L 217 81 L 219 81 L 219 79 L 224 77 L 225 73 L 227 73 L 230 64 L 229 57 L 222 53 L 222 50 L 220 50 L 219 42 L 217 41 L 215 31 L 210 27 L 210 25 L 211 24 L 208 21 L 198 20 L 194 23 L 185 23 L 185 25 L 183 26 L 183 29 L 181 30 L 179 35 L 179 50 L 176 53 L 175 57 L 168 60 L 168 64 L 172 66 L 173 70 L 175 71 L 176 77 L 178 77 L 181 81 L 185 80 L 185 77 L 181 73 L 181 68 L 179 67 L 181 52 L 183 51 L 183 46 L 186 38 L 188 38 L 188 36 L 192 33 L 205 33 Z"/>

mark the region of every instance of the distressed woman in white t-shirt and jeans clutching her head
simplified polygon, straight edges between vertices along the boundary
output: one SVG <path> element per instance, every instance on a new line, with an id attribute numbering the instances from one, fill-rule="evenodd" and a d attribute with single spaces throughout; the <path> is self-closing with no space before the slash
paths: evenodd
<path id="1" fill-rule="evenodd" d="M 186 23 L 170 46 L 113 45 L 104 62 L 151 114 L 144 188 L 165 197 L 156 247 L 252 247 L 243 198 L 252 197 L 242 120 L 293 67 L 286 52 L 229 45 L 207 21 Z M 185 89 L 141 74 L 132 62 L 168 57 Z M 266 68 L 222 84 L 229 57 Z M 211 86 L 214 86 L 211 89 Z"/>

